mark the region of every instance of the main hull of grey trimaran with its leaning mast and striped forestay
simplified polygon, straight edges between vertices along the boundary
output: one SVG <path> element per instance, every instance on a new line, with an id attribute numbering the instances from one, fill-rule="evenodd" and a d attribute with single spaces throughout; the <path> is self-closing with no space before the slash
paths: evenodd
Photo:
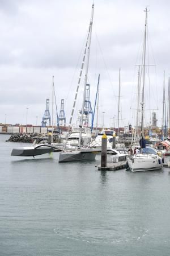
<path id="1" fill-rule="evenodd" d="M 93 17 L 94 17 L 94 4 L 92 5 L 91 20 L 90 20 L 90 26 L 89 26 L 88 35 L 87 35 L 86 47 L 85 47 L 85 50 L 84 50 L 82 68 L 80 70 L 78 86 L 76 88 L 76 94 L 75 94 L 73 109 L 72 109 L 72 112 L 71 112 L 71 118 L 70 118 L 70 122 L 69 122 L 69 129 L 70 129 L 71 121 L 72 121 L 73 114 L 74 114 L 74 109 L 75 109 L 76 98 L 77 98 L 77 94 L 78 94 L 78 90 L 79 90 L 80 79 L 81 79 L 81 76 L 82 76 L 82 70 L 83 70 L 84 61 L 85 61 L 86 52 L 87 52 L 86 72 L 85 72 L 85 78 L 84 78 L 84 90 L 83 90 L 83 101 L 82 101 L 82 111 L 81 111 L 80 124 L 79 124 L 79 142 L 78 142 L 78 146 L 70 147 L 69 149 L 66 147 L 66 145 L 67 145 L 67 142 L 66 142 L 65 148 L 59 154 L 58 162 L 95 160 L 95 156 L 96 156 L 95 148 L 90 148 L 90 147 L 88 147 L 88 145 L 83 147 L 81 145 L 82 134 L 83 134 L 84 102 L 86 100 L 86 85 L 87 85 L 87 75 L 88 75 L 88 63 L 89 63 L 89 57 L 90 57 L 90 45 L 91 45 Z M 69 131 L 68 131 L 67 138 L 68 137 L 69 137 Z"/>

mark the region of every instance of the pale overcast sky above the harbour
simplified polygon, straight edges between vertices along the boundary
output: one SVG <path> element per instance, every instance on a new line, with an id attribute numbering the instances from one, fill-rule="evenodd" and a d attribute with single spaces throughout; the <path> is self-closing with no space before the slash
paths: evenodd
<path id="1" fill-rule="evenodd" d="M 150 86 L 146 85 L 145 121 L 150 122 L 149 108 L 159 108 L 156 114 L 161 125 L 164 69 L 166 86 L 169 76 L 170 2 L 97 0 L 94 3 L 88 82 L 93 107 L 100 73 L 99 123 L 103 122 L 103 112 L 105 126 L 117 123 L 119 68 L 120 126 L 135 123 L 137 65 L 145 28 L 143 10 L 148 6 L 147 64 L 152 66 Z M 35 125 L 38 117 L 40 125 L 46 98 L 50 99 L 52 115 L 52 76 L 58 112 L 63 98 L 66 123 L 69 122 L 91 7 L 91 0 L 0 0 L 0 122 L 4 123 L 6 116 L 6 123 L 25 124 L 28 108 L 28 123 Z M 84 77 L 81 88 L 83 81 Z M 73 123 L 82 101 L 81 90 Z"/>

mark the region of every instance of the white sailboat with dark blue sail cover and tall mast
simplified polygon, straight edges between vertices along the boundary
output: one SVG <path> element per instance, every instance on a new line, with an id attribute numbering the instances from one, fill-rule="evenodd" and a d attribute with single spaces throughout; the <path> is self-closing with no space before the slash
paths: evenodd
<path id="1" fill-rule="evenodd" d="M 141 113 L 142 113 L 142 121 L 141 121 L 141 139 L 140 139 L 140 146 L 141 150 L 139 154 L 132 155 L 128 158 L 128 165 L 132 172 L 138 171 L 152 171 L 152 170 L 159 170 L 162 168 L 162 159 L 160 155 L 157 154 L 156 150 L 153 148 L 146 148 L 145 146 L 145 139 L 143 134 L 143 117 L 144 117 L 144 89 L 145 89 L 145 67 L 146 67 L 146 33 L 147 33 L 147 7 L 146 7 L 146 19 L 145 19 L 145 40 L 143 44 L 143 58 L 142 58 L 142 68 L 143 68 L 143 86 L 142 86 L 142 102 L 141 102 Z M 138 106 L 139 106 L 139 90 L 138 88 Z M 138 112 L 138 108 L 137 108 Z M 138 113 L 137 113 L 138 115 Z M 136 127 L 137 129 L 137 127 Z"/>

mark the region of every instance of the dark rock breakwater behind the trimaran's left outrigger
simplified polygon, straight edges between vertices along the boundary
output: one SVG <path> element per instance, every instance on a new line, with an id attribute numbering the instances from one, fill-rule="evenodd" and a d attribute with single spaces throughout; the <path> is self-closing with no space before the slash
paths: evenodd
<path id="1" fill-rule="evenodd" d="M 7 141 L 33 143 L 35 140 L 37 144 L 48 143 L 48 133 L 14 133 Z M 53 133 L 53 142 L 60 142 L 58 134 Z"/>

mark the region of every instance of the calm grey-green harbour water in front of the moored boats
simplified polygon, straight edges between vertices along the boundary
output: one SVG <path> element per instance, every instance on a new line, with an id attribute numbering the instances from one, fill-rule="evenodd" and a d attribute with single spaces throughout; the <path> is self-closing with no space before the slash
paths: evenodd
<path id="1" fill-rule="evenodd" d="M 0 255 L 169 255 L 170 169 L 98 171 L 0 135 Z M 28 146 L 28 144 L 27 144 Z"/>

